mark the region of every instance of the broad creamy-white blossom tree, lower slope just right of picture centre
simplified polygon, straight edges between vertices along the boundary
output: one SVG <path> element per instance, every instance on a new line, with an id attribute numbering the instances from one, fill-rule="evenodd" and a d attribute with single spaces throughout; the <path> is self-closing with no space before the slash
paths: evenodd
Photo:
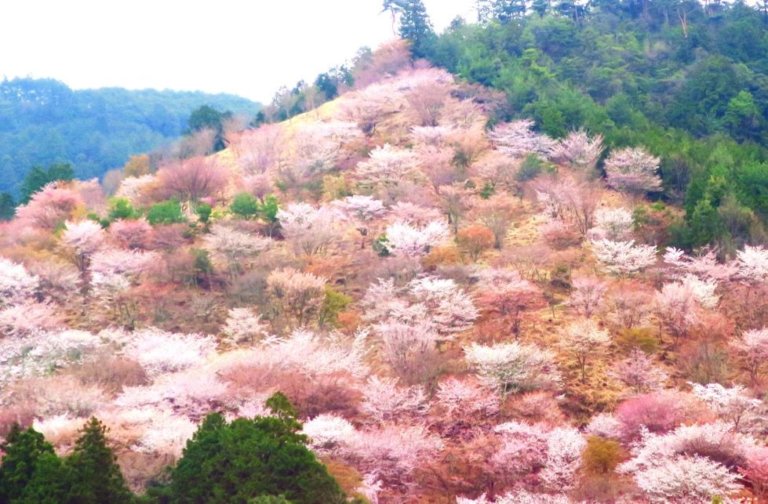
<path id="1" fill-rule="evenodd" d="M 554 354 L 536 345 L 516 341 L 492 346 L 471 343 L 464 347 L 464 354 L 480 379 L 502 396 L 560 383 Z"/>

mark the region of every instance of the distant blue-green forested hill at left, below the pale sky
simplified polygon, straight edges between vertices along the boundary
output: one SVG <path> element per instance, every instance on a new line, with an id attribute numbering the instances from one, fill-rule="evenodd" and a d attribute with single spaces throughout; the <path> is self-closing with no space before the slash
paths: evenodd
<path id="1" fill-rule="evenodd" d="M 0 82 L 0 193 L 17 196 L 33 166 L 70 163 L 83 180 L 178 138 L 202 105 L 252 117 L 232 95 L 119 88 L 74 91 L 50 79 Z"/>

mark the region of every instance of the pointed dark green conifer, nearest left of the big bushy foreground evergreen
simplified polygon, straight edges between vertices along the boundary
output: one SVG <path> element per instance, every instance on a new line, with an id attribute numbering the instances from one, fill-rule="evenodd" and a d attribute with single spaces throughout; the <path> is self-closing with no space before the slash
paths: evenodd
<path id="1" fill-rule="evenodd" d="M 96 418 L 85 424 L 66 466 L 71 478 L 68 502 L 82 504 L 130 503 L 117 457 L 107 445 L 107 427 Z"/>

